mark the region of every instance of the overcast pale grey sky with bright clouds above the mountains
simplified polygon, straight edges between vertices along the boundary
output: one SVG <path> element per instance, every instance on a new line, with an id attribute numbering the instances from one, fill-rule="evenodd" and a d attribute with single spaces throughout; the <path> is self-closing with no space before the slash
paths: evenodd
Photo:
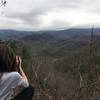
<path id="1" fill-rule="evenodd" d="M 0 29 L 58 30 L 100 26 L 100 0 L 7 0 Z"/>

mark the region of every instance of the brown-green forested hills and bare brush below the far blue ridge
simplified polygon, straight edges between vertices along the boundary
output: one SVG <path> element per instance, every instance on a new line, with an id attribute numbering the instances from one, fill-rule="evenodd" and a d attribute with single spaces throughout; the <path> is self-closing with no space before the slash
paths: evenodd
<path id="1" fill-rule="evenodd" d="M 36 89 L 33 100 L 99 100 L 99 35 L 70 39 L 28 35 L 1 43 L 22 57 L 23 68 Z"/>

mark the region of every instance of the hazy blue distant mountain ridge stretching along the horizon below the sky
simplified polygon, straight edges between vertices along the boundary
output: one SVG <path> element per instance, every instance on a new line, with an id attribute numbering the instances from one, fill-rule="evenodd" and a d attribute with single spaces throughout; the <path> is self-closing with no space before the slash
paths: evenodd
<path id="1" fill-rule="evenodd" d="M 0 39 L 22 39 L 22 40 L 43 40 L 51 38 L 70 38 L 70 37 L 84 37 L 91 34 L 92 29 L 67 29 L 59 31 L 15 31 L 15 30 L 0 30 Z M 100 35 L 100 28 L 94 29 L 95 35 Z"/>

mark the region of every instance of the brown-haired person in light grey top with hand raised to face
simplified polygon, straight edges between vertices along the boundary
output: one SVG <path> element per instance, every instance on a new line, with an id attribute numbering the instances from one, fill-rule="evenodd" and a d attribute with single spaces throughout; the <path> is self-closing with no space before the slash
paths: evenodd
<path id="1" fill-rule="evenodd" d="M 0 100 L 32 100 L 34 88 L 21 67 L 21 57 L 5 44 L 0 44 Z M 14 96 L 16 88 L 20 92 Z"/>

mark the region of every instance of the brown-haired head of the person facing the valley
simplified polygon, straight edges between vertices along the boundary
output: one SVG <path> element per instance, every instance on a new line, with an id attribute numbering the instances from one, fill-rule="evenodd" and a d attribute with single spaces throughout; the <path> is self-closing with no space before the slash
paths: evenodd
<path id="1" fill-rule="evenodd" d="M 0 72 L 13 71 L 17 71 L 16 55 L 10 47 L 0 44 Z"/>

